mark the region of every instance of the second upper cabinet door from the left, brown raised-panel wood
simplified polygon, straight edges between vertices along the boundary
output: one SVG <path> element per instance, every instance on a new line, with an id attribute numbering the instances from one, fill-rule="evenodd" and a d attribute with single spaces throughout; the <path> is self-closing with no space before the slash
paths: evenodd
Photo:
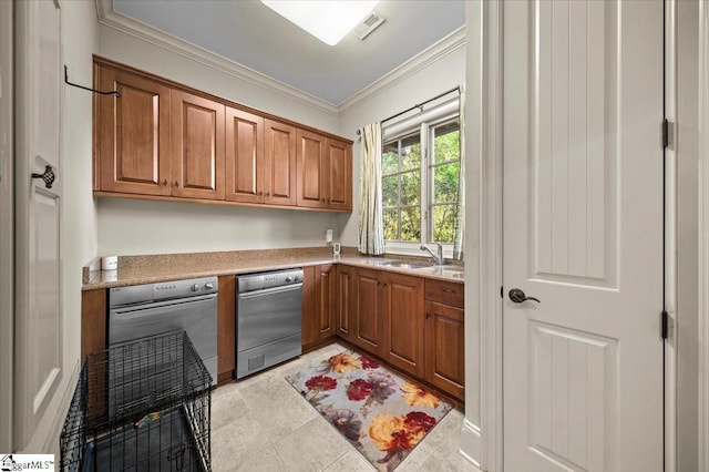
<path id="1" fill-rule="evenodd" d="M 222 103 L 172 91 L 173 196 L 224 199 Z"/>

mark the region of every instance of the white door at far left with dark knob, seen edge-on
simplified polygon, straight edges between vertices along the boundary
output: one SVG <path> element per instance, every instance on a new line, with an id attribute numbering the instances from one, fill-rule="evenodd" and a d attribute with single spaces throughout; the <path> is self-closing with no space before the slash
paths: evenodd
<path id="1" fill-rule="evenodd" d="M 60 10 L 52 0 L 16 8 L 14 444 L 21 450 L 62 378 L 60 280 Z M 32 178 L 50 166 L 55 182 Z M 39 452 L 39 451 L 32 451 Z"/>

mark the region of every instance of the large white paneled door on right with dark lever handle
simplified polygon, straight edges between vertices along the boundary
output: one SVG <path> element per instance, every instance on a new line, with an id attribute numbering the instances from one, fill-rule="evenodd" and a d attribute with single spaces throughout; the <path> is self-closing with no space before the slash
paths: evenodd
<path id="1" fill-rule="evenodd" d="M 662 9 L 503 3 L 506 471 L 662 470 Z"/>

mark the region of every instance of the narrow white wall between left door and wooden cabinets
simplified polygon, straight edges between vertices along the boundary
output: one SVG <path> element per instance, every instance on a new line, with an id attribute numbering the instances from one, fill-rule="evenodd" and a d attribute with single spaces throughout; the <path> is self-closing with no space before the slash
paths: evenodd
<path id="1" fill-rule="evenodd" d="M 97 47 L 93 2 L 61 2 L 63 62 L 72 82 L 92 82 L 91 54 Z M 80 33 L 78 33 L 80 32 Z M 62 244 L 62 372 L 60 387 L 27 452 L 59 453 L 59 434 L 68 401 L 75 388 L 81 352 L 81 266 L 96 254 L 96 214 L 91 195 L 92 95 L 64 86 L 62 110 L 62 172 L 64 179 L 61 220 Z M 59 455 L 56 455 L 59 460 Z"/>

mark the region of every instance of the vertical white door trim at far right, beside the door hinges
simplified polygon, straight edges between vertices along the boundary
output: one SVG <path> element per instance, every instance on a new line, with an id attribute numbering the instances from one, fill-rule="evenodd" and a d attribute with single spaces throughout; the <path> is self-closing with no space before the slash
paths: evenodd
<path id="1" fill-rule="evenodd" d="M 677 2 L 677 470 L 699 470 L 699 2 Z"/>

